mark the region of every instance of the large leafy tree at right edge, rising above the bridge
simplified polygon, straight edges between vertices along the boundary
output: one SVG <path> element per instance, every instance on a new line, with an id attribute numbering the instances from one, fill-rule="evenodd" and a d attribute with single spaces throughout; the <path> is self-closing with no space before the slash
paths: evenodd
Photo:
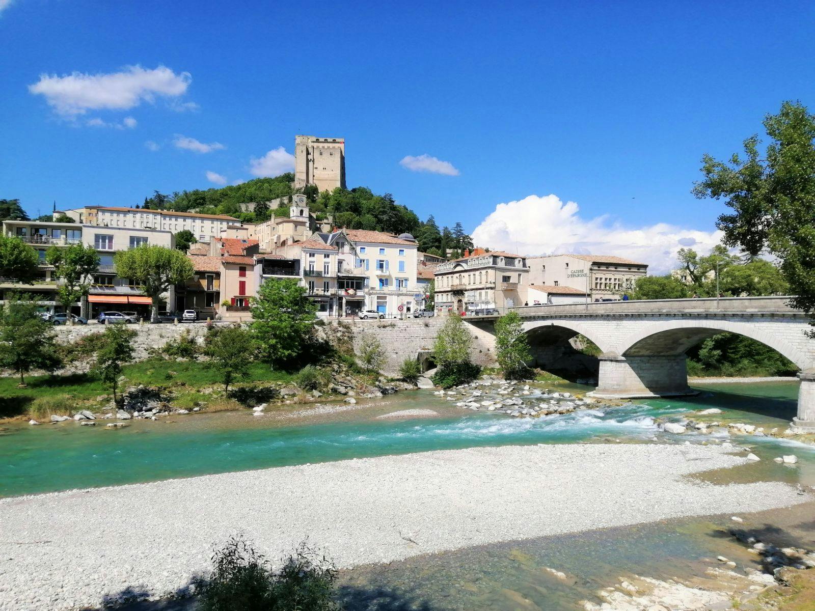
<path id="1" fill-rule="evenodd" d="M 795 295 L 793 305 L 815 324 L 815 115 L 799 102 L 784 102 L 764 118 L 770 138 L 766 152 L 753 135 L 744 156 L 727 161 L 703 156 L 704 178 L 694 195 L 725 200 L 733 213 L 718 226 L 725 244 L 752 257 L 768 250 Z"/>

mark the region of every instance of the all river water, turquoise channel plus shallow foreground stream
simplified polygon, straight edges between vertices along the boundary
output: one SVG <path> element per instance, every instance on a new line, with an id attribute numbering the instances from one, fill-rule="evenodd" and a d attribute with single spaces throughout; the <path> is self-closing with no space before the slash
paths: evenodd
<path id="1" fill-rule="evenodd" d="M 569 384 L 549 388 L 588 390 Z M 138 420 L 117 430 L 80 427 L 74 422 L 4 424 L 0 425 L 0 496 L 471 446 L 641 443 L 653 442 L 654 436 L 661 442 L 701 442 L 700 435 L 672 438 L 659 432 L 654 418 L 678 418 L 689 411 L 718 407 L 725 413 L 716 419 L 783 430 L 795 415 L 795 382 L 699 385 L 697 389 L 700 393 L 693 398 L 639 401 L 540 419 L 464 410 L 430 391 L 416 391 L 355 406 L 292 406 L 261 417 L 239 411 Z M 377 419 L 415 408 L 432 409 L 438 416 Z M 815 446 L 774 437 L 739 437 L 738 442 L 751 446 L 760 463 L 699 477 L 716 483 L 759 479 L 815 486 Z M 799 464 L 790 468 L 774 463 L 773 457 L 782 453 L 795 453 Z M 763 521 L 761 527 L 771 529 L 778 543 L 813 548 L 813 519 L 813 503 L 809 503 L 756 515 L 754 522 Z M 731 526 L 729 516 L 713 516 L 470 547 L 346 571 L 341 575 L 342 591 L 347 609 L 574 611 L 580 608 L 579 600 L 597 602 L 596 592 L 625 574 L 692 578 L 703 574 L 709 566 L 706 562 L 717 555 L 757 567 L 755 556 L 727 534 Z M 553 578 L 544 567 L 557 568 L 569 578 Z M 194 608 L 189 605 L 137 608 Z"/>

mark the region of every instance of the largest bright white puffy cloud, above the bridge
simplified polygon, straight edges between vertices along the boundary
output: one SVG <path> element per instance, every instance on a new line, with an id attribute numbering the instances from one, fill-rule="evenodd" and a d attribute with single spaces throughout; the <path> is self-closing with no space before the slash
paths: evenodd
<path id="1" fill-rule="evenodd" d="M 479 246 L 535 254 L 606 254 L 648 263 L 651 274 L 676 268 L 676 251 L 685 246 L 707 252 L 720 231 L 682 229 L 667 223 L 632 227 L 607 216 L 582 218 L 573 201 L 555 195 L 527 196 L 498 204 L 473 231 Z"/>

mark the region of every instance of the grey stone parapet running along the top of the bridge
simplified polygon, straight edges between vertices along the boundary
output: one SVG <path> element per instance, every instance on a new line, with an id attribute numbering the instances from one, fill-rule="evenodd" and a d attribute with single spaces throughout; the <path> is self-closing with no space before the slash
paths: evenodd
<path id="1" fill-rule="evenodd" d="M 562 303 L 542 306 L 516 306 L 500 308 L 498 314 L 515 311 L 522 316 L 558 316 L 563 314 L 689 314 L 704 312 L 764 312 L 768 314 L 800 312 L 789 305 L 792 297 L 703 297 L 693 299 L 650 299 L 629 301 L 589 301 L 588 303 Z M 488 317 L 473 317 L 488 318 Z"/>

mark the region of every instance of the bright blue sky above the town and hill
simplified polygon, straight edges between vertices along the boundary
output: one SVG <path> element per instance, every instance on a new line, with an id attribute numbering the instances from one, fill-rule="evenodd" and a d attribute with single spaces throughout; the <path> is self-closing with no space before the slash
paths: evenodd
<path id="1" fill-rule="evenodd" d="M 253 158 L 293 152 L 302 133 L 346 138 L 350 187 L 390 191 L 440 224 L 481 226 L 482 240 L 500 243 L 484 245 L 619 253 L 665 223 L 656 233 L 673 241 L 707 232 L 692 234 L 701 247 L 716 241 L 722 211 L 690 194 L 703 152 L 728 156 L 784 99 L 815 105 L 807 2 L 0 7 L 0 197 L 33 214 L 53 200 L 130 205 L 153 189 L 215 186 L 207 172 L 253 178 Z M 83 81 L 77 101 L 63 79 L 133 78 L 137 65 L 144 90 Z M 156 85 L 162 66 L 170 81 Z M 105 103 L 118 108 L 93 108 Z M 180 136 L 220 147 L 178 148 Z M 399 163 L 423 155 L 458 174 Z M 524 201 L 500 218 L 497 204 Z M 558 227 L 552 215 L 565 215 L 571 243 L 545 231 Z M 641 229 L 643 244 L 610 237 Z M 659 248 L 671 256 L 671 244 Z"/>

